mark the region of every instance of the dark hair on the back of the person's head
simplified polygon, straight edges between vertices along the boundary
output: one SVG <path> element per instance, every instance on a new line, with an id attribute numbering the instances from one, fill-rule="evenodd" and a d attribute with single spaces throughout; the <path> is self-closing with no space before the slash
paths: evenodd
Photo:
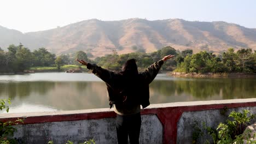
<path id="1" fill-rule="evenodd" d="M 122 73 L 127 76 L 138 75 L 136 59 L 132 58 L 126 61 L 123 65 Z"/>

